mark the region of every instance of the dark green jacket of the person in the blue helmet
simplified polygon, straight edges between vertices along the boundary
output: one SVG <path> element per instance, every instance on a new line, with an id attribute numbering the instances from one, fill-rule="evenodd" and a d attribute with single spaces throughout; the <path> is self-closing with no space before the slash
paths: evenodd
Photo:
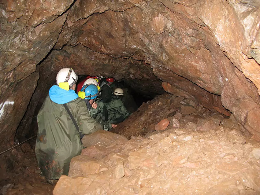
<path id="1" fill-rule="evenodd" d="M 103 128 L 106 131 L 110 131 L 112 129 L 112 125 L 111 123 L 109 123 L 108 120 L 108 113 L 107 113 L 107 109 L 106 106 L 104 105 L 103 102 L 101 101 L 96 101 L 98 107 L 97 109 L 94 109 L 93 107 L 91 107 L 90 109 L 90 115 L 93 119 L 95 119 L 97 122 L 103 124 Z"/>

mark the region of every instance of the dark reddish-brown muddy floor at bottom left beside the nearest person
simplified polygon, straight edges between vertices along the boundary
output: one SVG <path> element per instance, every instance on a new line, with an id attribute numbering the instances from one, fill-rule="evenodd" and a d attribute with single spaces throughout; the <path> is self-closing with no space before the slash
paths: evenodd
<path id="1" fill-rule="evenodd" d="M 35 139 L 26 142 L 8 154 L 10 160 L 1 175 L 0 194 L 52 194 L 54 186 L 47 184 L 45 178 L 41 175 L 38 163 L 35 157 Z M 10 162 L 13 160 L 13 162 Z M 0 165 L 3 168 L 3 164 Z M 2 169 L 4 170 L 4 169 Z"/>

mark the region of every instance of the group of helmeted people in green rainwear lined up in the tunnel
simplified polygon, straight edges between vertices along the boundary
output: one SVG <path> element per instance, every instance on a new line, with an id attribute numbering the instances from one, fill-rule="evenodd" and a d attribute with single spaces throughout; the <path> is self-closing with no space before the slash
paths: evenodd
<path id="1" fill-rule="evenodd" d="M 88 76 L 76 85 L 77 80 L 72 68 L 61 69 L 37 116 L 35 154 L 51 184 L 68 175 L 71 159 L 84 147 L 84 135 L 110 131 L 130 115 L 121 101 L 124 91 L 116 88 L 114 78 Z"/>

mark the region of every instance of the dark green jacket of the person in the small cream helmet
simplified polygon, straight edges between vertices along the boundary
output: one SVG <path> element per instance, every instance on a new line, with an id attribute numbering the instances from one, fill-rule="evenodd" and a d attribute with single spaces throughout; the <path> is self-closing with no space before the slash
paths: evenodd
<path id="1" fill-rule="evenodd" d="M 108 112 L 108 122 L 112 124 L 120 123 L 130 115 L 117 95 L 113 95 L 111 101 L 106 103 L 105 106 Z"/>

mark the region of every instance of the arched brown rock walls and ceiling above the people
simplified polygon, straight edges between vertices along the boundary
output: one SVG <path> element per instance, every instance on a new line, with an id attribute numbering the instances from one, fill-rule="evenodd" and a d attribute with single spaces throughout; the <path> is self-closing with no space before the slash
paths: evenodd
<path id="1" fill-rule="evenodd" d="M 260 138 L 256 1 L 27 0 L 4 2 L 0 9 L 0 141 L 13 137 L 24 116 L 41 61 L 50 72 L 70 65 L 78 74 L 117 79 L 124 72 L 138 77 L 131 68 L 145 61 L 166 91 L 232 112 Z M 176 82 L 180 78 L 183 84 Z"/>

